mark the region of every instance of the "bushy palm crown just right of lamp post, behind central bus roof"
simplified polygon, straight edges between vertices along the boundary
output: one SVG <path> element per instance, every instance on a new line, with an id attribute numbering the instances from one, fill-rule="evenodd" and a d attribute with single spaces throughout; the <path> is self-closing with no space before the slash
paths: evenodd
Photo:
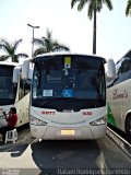
<path id="1" fill-rule="evenodd" d="M 60 44 L 58 40 L 52 38 L 52 33 L 47 28 L 46 37 L 34 38 L 34 44 L 38 45 L 38 48 L 34 51 L 34 56 L 51 51 L 69 51 L 69 47 Z"/>

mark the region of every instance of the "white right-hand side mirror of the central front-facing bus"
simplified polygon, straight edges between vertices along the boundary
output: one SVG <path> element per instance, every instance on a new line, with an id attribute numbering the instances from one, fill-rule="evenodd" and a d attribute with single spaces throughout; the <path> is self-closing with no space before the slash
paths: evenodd
<path id="1" fill-rule="evenodd" d="M 116 68 L 112 59 L 109 59 L 107 61 L 107 68 L 108 68 L 108 72 L 106 74 L 107 81 L 114 80 L 116 78 Z"/>

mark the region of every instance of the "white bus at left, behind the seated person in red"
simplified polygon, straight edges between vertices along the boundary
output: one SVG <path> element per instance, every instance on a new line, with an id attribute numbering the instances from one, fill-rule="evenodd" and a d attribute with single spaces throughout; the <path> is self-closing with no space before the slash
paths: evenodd
<path id="1" fill-rule="evenodd" d="M 7 125 L 2 112 L 8 114 L 12 106 L 17 112 L 17 127 L 28 122 L 31 84 L 21 79 L 21 69 L 19 63 L 0 61 L 0 128 Z"/>

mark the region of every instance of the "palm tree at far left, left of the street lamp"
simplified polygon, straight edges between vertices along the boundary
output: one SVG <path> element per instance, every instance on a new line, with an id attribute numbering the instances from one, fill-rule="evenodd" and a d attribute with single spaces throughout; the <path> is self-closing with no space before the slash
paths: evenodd
<path id="1" fill-rule="evenodd" d="M 17 46 L 22 43 L 22 39 L 15 40 L 14 43 L 9 43 L 7 39 L 0 40 L 0 49 L 5 51 L 7 55 L 0 56 L 0 61 L 5 61 L 11 58 L 12 62 L 19 62 L 20 57 L 27 58 L 26 54 L 16 54 Z"/>

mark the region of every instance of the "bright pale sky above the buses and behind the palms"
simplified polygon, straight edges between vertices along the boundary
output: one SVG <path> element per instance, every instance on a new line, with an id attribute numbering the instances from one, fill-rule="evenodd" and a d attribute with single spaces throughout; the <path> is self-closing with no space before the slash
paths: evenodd
<path id="1" fill-rule="evenodd" d="M 114 10 L 104 4 L 97 13 L 97 55 L 117 62 L 131 49 L 131 16 L 126 16 L 128 0 L 111 0 Z M 78 4 L 71 9 L 71 0 L 0 0 L 0 38 L 9 42 L 23 39 L 17 52 L 32 55 L 34 37 L 46 35 L 70 47 L 71 51 L 92 54 L 93 20 L 87 18 L 87 5 L 79 12 Z M 0 55 L 3 52 L 0 51 Z"/>

